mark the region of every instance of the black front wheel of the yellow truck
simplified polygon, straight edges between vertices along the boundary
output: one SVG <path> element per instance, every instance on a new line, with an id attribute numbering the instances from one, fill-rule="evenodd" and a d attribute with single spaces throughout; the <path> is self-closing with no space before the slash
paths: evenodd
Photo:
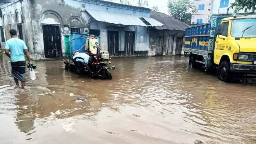
<path id="1" fill-rule="evenodd" d="M 232 73 L 229 69 L 229 63 L 224 61 L 220 64 L 219 72 L 218 72 L 219 80 L 224 82 L 230 82 L 232 80 Z"/>

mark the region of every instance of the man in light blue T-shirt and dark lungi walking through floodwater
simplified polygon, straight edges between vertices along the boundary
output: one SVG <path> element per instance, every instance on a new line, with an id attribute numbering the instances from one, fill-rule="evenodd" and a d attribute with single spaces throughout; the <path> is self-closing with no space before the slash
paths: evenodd
<path id="1" fill-rule="evenodd" d="M 10 30 L 10 35 L 12 39 L 9 39 L 5 43 L 5 54 L 11 59 L 12 65 L 12 76 L 17 86 L 19 86 L 19 81 L 21 81 L 22 89 L 25 87 L 26 82 L 26 61 L 25 55 L 30 62 L 30 56 L 27 50 L 25 42 L 18 38 L 17 31 L 14 29 Z"/>

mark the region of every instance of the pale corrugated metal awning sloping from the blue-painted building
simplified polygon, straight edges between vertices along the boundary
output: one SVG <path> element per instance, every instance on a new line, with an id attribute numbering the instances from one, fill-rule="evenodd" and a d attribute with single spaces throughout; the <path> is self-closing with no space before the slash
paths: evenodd
<path id="1" fill-rule="evenodd" d="M 140 17 L 136 17 L 128 14 L 112 13 L 101 10 L 86 9 L 86 11 L 96 20 L 100 22 L 120 24 L 124 26 L 147 26 L 141 21 Z M 156 21 L 153 18 L 143 17 L 152 26 L 163 26 L 162 23 Z"/>

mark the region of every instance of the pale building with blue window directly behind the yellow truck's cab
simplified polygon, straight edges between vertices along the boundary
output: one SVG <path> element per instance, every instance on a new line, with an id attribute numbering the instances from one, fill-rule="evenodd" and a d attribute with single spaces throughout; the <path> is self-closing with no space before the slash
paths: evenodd
<path id="1" fill-rule="evenodd" d="M 230 4 L 234 3 L 235 0 L 212 0 L 211 5 L 211 16 L 218 15 L 233 15 L 234 9 L 230 8 Z M 239 10 L 237 15 L 244 15 L 244 10 Z M 252 10 L 249 15 L 256 15 Z"/>

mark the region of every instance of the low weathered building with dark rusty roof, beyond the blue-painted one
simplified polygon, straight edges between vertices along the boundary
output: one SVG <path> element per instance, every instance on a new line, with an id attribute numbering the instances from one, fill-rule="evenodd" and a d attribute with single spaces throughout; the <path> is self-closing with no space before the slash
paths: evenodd
<path id="1" fill-rule="evenodd" d="M 185 28 L 187 24 L 159 12 L 150 12 L 150 17 L 164 26 L 151 27 L 149 31 L 149 55 L 184 54 Z"/>

